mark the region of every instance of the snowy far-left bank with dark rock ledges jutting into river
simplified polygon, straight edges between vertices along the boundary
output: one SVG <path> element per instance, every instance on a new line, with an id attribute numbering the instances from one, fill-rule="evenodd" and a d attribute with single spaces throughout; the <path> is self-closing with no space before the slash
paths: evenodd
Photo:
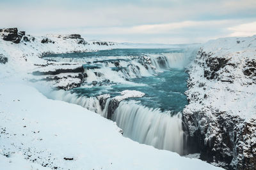
<path id="1" fill-rule="evenodd" d="M 0 68 L 0 77 L 19 73 L 19 76 L 23 74 L 24 78 L 35 79 L 35 76 L 31 77 L 28 73 L 42 73 L 46 75 L 45 80 L 54 80 L 57 87 L 70 89 L 80 85 L 83 79 L 82 65 L 47 61 L 41 58 L 42 55 L 91 52 L 117 47 L 118 44 L 113 42 L 86 41 L 79 34 L 48 34 L 34 37 L 27 35 L 24 31 L 18 31 L 17 28 L 0 29 L 0 63 L 4 64 Z M 56 76 L 54 73 L 66 74 Z M 69 73 L 68 76 L 67 73 Z"/>

